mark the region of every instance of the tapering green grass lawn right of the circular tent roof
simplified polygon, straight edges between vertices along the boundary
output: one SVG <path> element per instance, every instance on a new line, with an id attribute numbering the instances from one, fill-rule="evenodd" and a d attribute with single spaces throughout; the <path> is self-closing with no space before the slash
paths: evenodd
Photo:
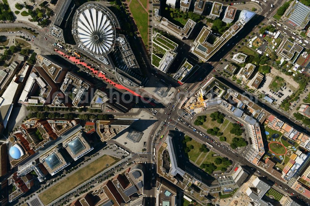
<path id="1" fill-rule="evenodd" d="M 144 45 L 148 44 L 148 13 L 137 0 L 131 1 L 129 5 L 132 16 L 139 29 Z"/>

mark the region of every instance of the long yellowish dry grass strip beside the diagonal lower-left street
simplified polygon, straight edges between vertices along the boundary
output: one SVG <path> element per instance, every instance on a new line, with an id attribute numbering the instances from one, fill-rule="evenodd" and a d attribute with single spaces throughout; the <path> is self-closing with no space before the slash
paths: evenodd
<path id="1" fill-rule="evenodd" d="M 53 187 L 50 187 L 46 191 L 42 192 L 39 195 L 39 198 L 44 205 L 48 205 L 56 198 L 69 192 L 70 190 L 90 179 L 94 175 L 105 170 L 107 168 L 106 164 L 109 164 L 111 166 L 114 165 L 117 161 L 119 161 L 119 159 L 114 159 L 114 157 L 104 155 L 93 161 L 89 165 L 78 170 L 74 174 L 70 175 L 69 177 L 66 177 L 64 180 L 58 182 Z"/>

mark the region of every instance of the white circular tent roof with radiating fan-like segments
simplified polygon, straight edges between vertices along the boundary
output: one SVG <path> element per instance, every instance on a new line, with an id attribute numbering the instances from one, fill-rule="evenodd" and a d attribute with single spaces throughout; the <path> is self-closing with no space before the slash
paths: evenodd
<path id="1" fill-rule="evenodd" d="M 82 5 L 74 18 L 73 30 L 78 43 L 94 54 L 108 54 L 115 45 L 115 27 L 108 10 Z M 114 20 L 115 21 L 115 20 Z"/>

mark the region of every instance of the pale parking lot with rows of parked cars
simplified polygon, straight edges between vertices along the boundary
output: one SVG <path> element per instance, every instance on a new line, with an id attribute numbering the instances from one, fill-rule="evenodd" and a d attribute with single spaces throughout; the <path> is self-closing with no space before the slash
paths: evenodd
<path id="1" fill-rule="evenodd" d="M 265 76 L 263 80 L 262 87 L 259 89 L 259 92 L 265 94 L 275 101 L 277 104 L 281 104 L 281 102 L 288 96 L 290 96 L 293 91 L 288 87 L 282 87 L 278 92 L 273 92 L 268 88 L 269 84 L 272 82 L 272 77 Z"/>

